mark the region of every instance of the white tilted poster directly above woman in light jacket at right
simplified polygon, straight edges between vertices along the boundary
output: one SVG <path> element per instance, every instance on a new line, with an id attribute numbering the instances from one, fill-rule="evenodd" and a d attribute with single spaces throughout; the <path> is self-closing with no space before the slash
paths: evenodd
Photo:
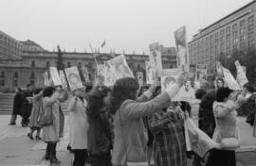
<path id="1" fill-rule="evenodd" d="M 239 84 L 236 82 L 233 75 L 230 73 L 229 69 L 222 68 L 222 72 L 224 75 L 225 83 L 228 85 L 230 90 L 236 91 L 241 90 Z"/>

